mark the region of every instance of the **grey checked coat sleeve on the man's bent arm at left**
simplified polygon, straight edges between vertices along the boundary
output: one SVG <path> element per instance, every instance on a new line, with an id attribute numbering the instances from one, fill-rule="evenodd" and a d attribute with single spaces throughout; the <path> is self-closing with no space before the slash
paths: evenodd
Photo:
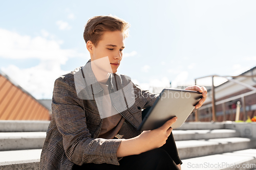
<path id="1" fill-rule="evenodd" d="M 58 78 L 54 83 L 52 113 L 62 135 L 63 148 L 75 164 L 110 163 L 119 165 L 116 156 L 122 139 L 91 138 L 82 100 L 77 97 L 74 84 Z"/>

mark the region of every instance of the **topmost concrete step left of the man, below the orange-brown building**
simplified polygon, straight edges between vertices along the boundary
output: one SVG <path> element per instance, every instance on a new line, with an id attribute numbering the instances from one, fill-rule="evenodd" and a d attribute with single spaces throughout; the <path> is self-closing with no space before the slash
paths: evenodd
<path id="1" fill-rule="evenodd" d="M 0 120 L 0 132 L 46 132 L 50 121 Z"/>

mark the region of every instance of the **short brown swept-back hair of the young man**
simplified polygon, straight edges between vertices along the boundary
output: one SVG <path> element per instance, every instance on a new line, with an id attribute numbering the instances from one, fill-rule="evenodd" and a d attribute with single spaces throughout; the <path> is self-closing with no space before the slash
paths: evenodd
<path id="1" fill-rule="evenodd" d="M 124 38 L 129 36 L 130 24 L 116 16 L 94 16 L 90 18 L 84 27 L 84 41 L 92 41 L 97 46 L 105 31 L 121 31 Z"/>

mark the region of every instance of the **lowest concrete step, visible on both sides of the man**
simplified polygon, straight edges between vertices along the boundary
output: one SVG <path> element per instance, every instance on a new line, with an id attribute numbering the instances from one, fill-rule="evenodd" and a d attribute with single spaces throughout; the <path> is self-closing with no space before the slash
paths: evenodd
<path id="1" fill-rule="evenodd" d="M 41 150 L 2 151 L 0 169 L 39 169 Z M 204 157 L 182 159 L 183 170 L 189 169 L 256 169 L 256 149 L 247 149 L 232 153 L 216 154 Z M 234 168 L 243 167 L 245 168 Z M 246 167 L 247 166 L 247 167 Z M 216 167 L 216 168 L 215 168 Z M 252 168 L 251 168 L 252 167 Z"/>

